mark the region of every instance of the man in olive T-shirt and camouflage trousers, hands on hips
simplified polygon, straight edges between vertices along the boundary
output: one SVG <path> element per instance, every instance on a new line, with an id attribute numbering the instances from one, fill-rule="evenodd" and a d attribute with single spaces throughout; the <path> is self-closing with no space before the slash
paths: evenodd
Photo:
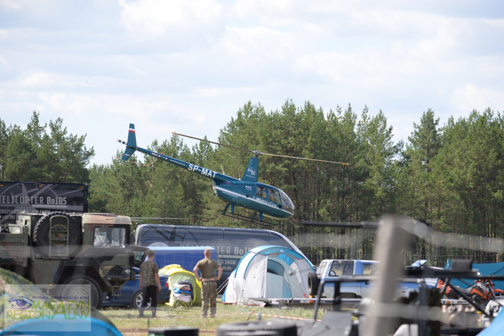
<path id="1" fill-rule="evenodd" d="M 198 261 L 193 273 L 201 283 L 201 316 L 207 317 L 208 307 L 210 307 L 210 317 L 215 317 L 217 313 L 217 281 L 222 276 L 222 267 L 212 259 L 212 250 L 205 249 L 205 258 Z M 217 277 L 215 276 L 217 270 Z M 201 277 L 198 275 L 201 272 Z"/>

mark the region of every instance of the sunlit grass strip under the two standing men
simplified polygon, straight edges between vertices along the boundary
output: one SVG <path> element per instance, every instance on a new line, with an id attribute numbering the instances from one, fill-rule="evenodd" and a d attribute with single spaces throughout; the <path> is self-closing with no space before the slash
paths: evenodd
<path id="1" fill-rule="evenodd" d="M 199 335 L 211 336 L 216 334 L 217 327 L 224 323 L 244 322 L 261 319 L 294 317 L 313 318 L 313 310 L 305 308 L 282 309 L 276 307 L 237 306 L 217 303 L 216 317 L 201 317 L 201 307 L 173 308 L 160 305 L 157 309 L 157 318 L 150 318 L 151 311 L 145 311 L 145 318 L 138 317 L 138 310 L 107 308 L 100 311 L 108 317 L 124 336 L 146 336 L 152 327 L 188 326 L 199 329 Z M 319 314 L 318 318 L 322 317 Z"/>

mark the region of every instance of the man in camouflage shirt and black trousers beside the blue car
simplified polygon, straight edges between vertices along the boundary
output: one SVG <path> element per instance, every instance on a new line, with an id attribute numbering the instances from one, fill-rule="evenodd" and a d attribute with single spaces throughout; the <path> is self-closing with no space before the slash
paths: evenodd
<path id="1" fill-rule="evenodd" d="M 140 317 L 144 317 L 144 309 L 151 300 L 152 317 L 156 317 L 157 291 L 161 290 L 158 265 L 154 261 L 154 251 L 147 252 L 147 260 L 140 265 L 140 289 L 144 299 L 140 306 Z"/>

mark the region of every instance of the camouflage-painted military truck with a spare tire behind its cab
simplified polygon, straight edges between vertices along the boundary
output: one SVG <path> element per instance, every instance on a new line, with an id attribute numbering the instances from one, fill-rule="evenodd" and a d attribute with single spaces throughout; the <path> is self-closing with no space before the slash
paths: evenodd
<path id="1" fill-rule="evenodd" d="M 19 213 L 0 229 L 0 266 L 57 295 L 89 285 L 95 308 L 135 279 L 148 251 L 132 245 L 130 217 L 114 214 Z"/>

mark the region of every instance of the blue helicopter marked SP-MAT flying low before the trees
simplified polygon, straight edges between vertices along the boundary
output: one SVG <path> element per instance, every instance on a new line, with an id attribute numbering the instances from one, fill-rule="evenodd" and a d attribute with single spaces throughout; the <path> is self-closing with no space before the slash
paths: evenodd
<path id="1" fill-rule="evenodd" d="M 163 161 L 169 162 L 175 166 L 187 169 L 193 173 L 199 174 L 201 176 L 207 177 L 212 180 L 214 195 L 226 202 L 226 207 L 222 212 L 222 215 L 232 217 L 235 219 L 243 220 L 250 223 L 260 224 L 260 225 L 276 225 L 279 223 L 271 223 L 263 219 L 264 217 L 284 220 L 292 217 L 294 213 L 294 204 L 292 200 L 287 196 L 285 192 L 281 189 L 274 187 L 269 184 L 260 183 L 258 179 L 258 168 L 259 168 L 259 156 L 261 154 L 280 156 L 286 158 L 295 158 L 303 160 L 312 161 L 322 161 L 330 163 L 339 163 L 348 165 L 347 163 L 333 162 L 326 160 L 316 160 L 307 158 L 297 158 L 285 155 L 276 154 L 266 154 L 259 151 L 250 151 L 241 149 L 238 147 L 233 147 L 229 145 L 219 144 L 212 141 L 194 138 L 190 136 L 185 136 L 173 132 L 173 134 L 187 137 L 195 140 L 206 141 L 211 144 L 231 147 L 237 150 L 253 153 L 254 156 L 248 161 L 248 165 L 241 179 L 231 177 L 225 174 L 218 173 L 211 169 L 200 167 L 198 165 L 184 162 L 172 157 L 159 154 L 153 151 L 149 151 L 144 148 L 137 146 L 137 138 L 135 133 L 135 125 L 130 124 L 130 130 L 128 133 L 128 142 L 117 140 L 119 143 L 126 145 L 126 150 L 122 155 L 123 161 L 128 161 L 135 151 L 142 152 L 144 154 L 153 156 L 155 158 L 161 159 Z M 244 208 L 246 210 L 252 211 L 253 215 L 251 217 L 243 216 L 235 213 L 234 207 Z M 228 212 L 229 211 L 229 212 Z"/>

